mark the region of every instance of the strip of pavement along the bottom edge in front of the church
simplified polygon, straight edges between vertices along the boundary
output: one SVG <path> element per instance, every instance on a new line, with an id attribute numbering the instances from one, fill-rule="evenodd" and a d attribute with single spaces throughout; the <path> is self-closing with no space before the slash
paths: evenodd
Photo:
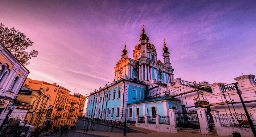
<path id="1" fill-rule="evenodd" d="M 74 132 L 84 133 L 83 130 L 76 130 Z M 116 133 L 116 132 L 103 132 L 103 131 L 88 131 L 84 134 L 94 134 L 94 135 L 102 135 L 108 137 L 123 137 L 124 133 Z M 164 133 L 164 132 L 151 132 L 151 133 L 126 133 L 126 136 L 130 137 L 216 137 L 214 135 L 196 135 L 196 134 L 174 134 L 174 133 Z"/>

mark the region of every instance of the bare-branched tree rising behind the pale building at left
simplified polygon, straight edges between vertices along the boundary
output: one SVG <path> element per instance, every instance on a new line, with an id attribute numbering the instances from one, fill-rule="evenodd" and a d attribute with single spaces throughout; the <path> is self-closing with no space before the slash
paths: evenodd
<path id="1" fill-rule="evenodd" d="M 9 29 L 3 23 L 0 23 L 0 41 L 23 65 L 29 65 L 29 60 L 38 55 L 35 49 L 25 51 L 29 46 L 33 46 L 33 42 L 26 38 L 24 33 L 14 28 Z"/>

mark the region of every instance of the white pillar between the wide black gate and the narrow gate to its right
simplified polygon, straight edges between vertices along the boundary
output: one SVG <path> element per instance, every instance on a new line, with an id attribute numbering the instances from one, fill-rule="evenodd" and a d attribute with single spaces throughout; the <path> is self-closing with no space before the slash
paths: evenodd
<path id="1" fill-rule="evenodd" d="M 209 123 L 208 123 L 208 117 L 205 114 L 205 111 L 207 108 L 196 108 L 198 119 L 199 119 L 199 124 L 200 124 L 200 130 L 202 135 L 209 135 Z"/>

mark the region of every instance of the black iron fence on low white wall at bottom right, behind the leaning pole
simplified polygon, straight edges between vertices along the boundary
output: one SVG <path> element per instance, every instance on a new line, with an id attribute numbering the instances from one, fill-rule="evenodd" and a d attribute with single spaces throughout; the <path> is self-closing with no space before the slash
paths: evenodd
<path id="1" fill-rule="evenodd" d="M 255 119 L 252 118 L 252 114 L 249 114 L 249 116 L 250 119 L 252 119 L 254 127 L 256 128 Z M 220 114 L 220 120 L 223 127 L 251 128 L 246 114 Z"/>

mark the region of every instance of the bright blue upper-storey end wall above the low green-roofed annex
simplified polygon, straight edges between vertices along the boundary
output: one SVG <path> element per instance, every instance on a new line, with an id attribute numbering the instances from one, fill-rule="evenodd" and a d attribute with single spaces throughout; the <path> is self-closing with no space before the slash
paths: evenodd
<path id="1" fill-rule="evenodd" d="M 132 90 L 133 89 L 136 89 L 136 99 L 134 99 L 134 98 L 132 98 Z M 132 103 L 132 102 L 135 102 L 135 101 L 139 101 L 139 100 L 141 100 L 140 99 L 140 90 L 141 89 L 143 89 L 143 91 L 144 91 L 144 99 L 145 99 L 145 89 L 144 88 L 140 88 L 140 87 L 135 87 L 135 86 L 131 86 L 131 85 L 129 85 L 128 86 L 128 101 L 127 101 L 127 104 L 129 104 L 129 103 Z"/>

